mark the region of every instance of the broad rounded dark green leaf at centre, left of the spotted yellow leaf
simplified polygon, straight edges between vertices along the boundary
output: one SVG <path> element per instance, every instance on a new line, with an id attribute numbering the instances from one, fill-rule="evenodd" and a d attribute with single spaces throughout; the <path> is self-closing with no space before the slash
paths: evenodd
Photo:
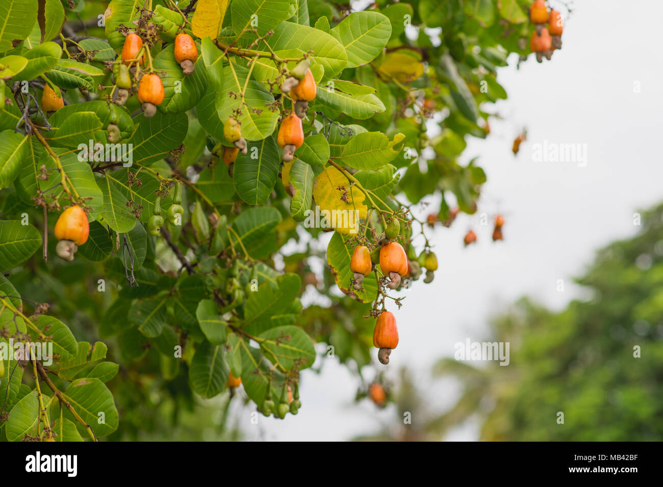
<path id="1" fill-rule="evenodd" d="M 249 208 L 233 221 L 231 227 L 234 232 L 229 232 L 228 237 L 235 246 L 238 246 L 237 236 L 239 235 L 239 239 L 251 257 L 267 258 L 276 250 L 274 229 L 280 221 L 281 215 L 276 208 Z"/>

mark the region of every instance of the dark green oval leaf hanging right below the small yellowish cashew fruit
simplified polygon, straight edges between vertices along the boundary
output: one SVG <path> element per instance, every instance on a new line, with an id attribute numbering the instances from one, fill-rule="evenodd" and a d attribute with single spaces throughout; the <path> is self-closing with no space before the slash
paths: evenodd
<path id="1" fill-rule="evenodd" d="M 249 142 L 248 152 L 237 154 L 235 160 L 233 180 L 239 197 L 249 205 L 265 203 L 276 184 L 279 163 L 280 150 L 274 137 Z"/>

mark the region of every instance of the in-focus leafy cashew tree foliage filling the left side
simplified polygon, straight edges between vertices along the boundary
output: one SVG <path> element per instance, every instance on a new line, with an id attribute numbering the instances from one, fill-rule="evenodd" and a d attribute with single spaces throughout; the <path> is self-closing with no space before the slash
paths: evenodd
<path id="1" fill-rule="evenodd" d="M 381 0 L 350 13 L 336 0 L 4 0 L 0 339 L 52 342 L 56 357 L 3 360 L 0 438 L 137 438 L 157 427 L 139 399 L 176 423 L 194 393 L 218 396 L 230 374 L 263 412 L 270 401 L 282 411 L 317 342 L 357 370 L 371 363 L 374 321 L 363 316 L 385 309 L 387 278 L 376 269 L 351 290 L 351 250 L 379 246 L 392 219 L 405 246 L 428 250 L 409 206 L 429 195 L 442 195 L 440 221 L 448 199 L 477 210 L 485 175 L 457 159 L 506 98 L 497 68 L 526 54 L 527 3 Z M 117 56 L 129 32 L 143 40 L 125 58 L 131 80 Z M 189 75 L 174 57 L 179 32 L 198 50 Z M 294 100 L 280 87 L 304 60 L 317 96 L 296 160 L 282 165 L 278 125 Z M 149 93 L 150 117 L 133 90 L 154 73 L 163 100 Z M 47 85 L 52 103 L 64 99 L 52 114 L 38 102 Z M 247 153 L 231 175 L 215 165 L 233 146 L 232 120 Z M 155 225 L 178 185 L 182 213 Z M 73 204 L 90 237 L 64 262 L 47 237 Z M 316 207 L 359 210 L 359 234 L 307 223 Z M 328 305 L 302 309 L 306 286 Z"/>

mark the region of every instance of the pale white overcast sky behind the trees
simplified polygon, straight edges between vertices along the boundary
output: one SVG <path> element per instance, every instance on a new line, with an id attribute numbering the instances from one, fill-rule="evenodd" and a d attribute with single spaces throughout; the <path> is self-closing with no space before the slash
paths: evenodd
<path id="1" fill-rule="evenodd" d="M 551 62 L 530 58 L 518 71 L 514 58 L 499 71 L 509 99 L 493 108 L 505 120 L 491 119 L 489 138 L 469 139 L 463 154 L 463 162 L 480 157 L 488 176 L 485 200 L 477 215 L 459 217 L 451 229 L 434 233 L 440 262 L 434 282 L 417 283 L 406 305 L 394 310 L 400 341 L 387 367 L 389 377 L 396 378 L 401 364 L 408 366 L 428 388 L 432 409 L 450 406 L 458 392 L 450 380 L 431 380 L 436 360 L 453 356 L 459 341 L 489 340 L 489 315 L 523 294 L 554 309 L 580 296 L 570 279 L 583 272 L 595 250 L 636 232 L 636 209 L 663 199 L 658 148 L 663 54 L 656 40 L 663 5 L 652 0 L 575 4 L 564 48 Z M 512 140 L 522 127 L 528 140 L 514 157 Z M 535 162 L 534 144 L 544 140 L 549 147 L 585 144 L 586 165 Z M 492 217 L 498 210 L 506 217 L 505 241 L 493 244 L 492 229 L 480 225 L 478 214 Z M 463 248 L 469 228 L 478 243 Z M 564 292 L 557 291 L 560 279 Z M 356 380 L 328 360 L 322 374 L 302 373 L 303 406 L 296 417 L 261 417 L 255 426 L 249 423 L 250 411 L 238 410 L 246 417 L 240 423 L 247 437 L 347 440 L 377 431 L 394 414 L 389 407 L 377 411 L 367 401 L 354 404 Z M 477 438 L 476 422 L 448 436 Z"/>

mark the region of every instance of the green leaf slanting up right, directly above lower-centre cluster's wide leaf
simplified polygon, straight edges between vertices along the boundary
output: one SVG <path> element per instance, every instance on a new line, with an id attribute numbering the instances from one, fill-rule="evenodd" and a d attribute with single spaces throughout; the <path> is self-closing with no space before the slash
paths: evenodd
<path id="1" fill-rule="evenodd" d="M 288 272 L 276 278 L 278 287 L 264 282 L 257 292 L 252 292 L 244 305 L 244 323 L 242 331 L 250 335 L 259 335 L 263 331 L 278 326 L 272 316 L 288 310 L 292 301 L 299 295 L 302 280 L 297 274 Z"/>

